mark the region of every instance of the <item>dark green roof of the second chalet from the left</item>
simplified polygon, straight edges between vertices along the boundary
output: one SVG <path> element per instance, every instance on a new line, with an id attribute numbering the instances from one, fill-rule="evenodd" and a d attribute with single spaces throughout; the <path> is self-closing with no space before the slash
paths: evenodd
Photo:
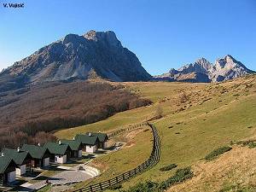
<path id="1" fill-rule="evenodd" d="M 18 152 L 17 150 L 12 148 L 3 148 L 2 153 L 8 155 L 19 166 L 24 163 L 24 160 L 26 160 L 27 155 L 29 155 L 26 151 L 20 150 Z"/>

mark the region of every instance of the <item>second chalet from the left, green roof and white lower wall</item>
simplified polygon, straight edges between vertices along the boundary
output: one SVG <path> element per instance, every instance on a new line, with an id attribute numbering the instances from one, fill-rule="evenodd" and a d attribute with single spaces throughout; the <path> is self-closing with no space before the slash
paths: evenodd
<path id="1" fill-rule="evenodd" d="M 26 151 L 21 151 L 20 148 L 17 148 L 17 150 L 12 148 L 3 148 L 2 153 L 15 161 L 15 164 L 17 165 L 17 176 L 24 175 L 26 173 L 26 168 L 31 166 L 32 156 Z"/>

